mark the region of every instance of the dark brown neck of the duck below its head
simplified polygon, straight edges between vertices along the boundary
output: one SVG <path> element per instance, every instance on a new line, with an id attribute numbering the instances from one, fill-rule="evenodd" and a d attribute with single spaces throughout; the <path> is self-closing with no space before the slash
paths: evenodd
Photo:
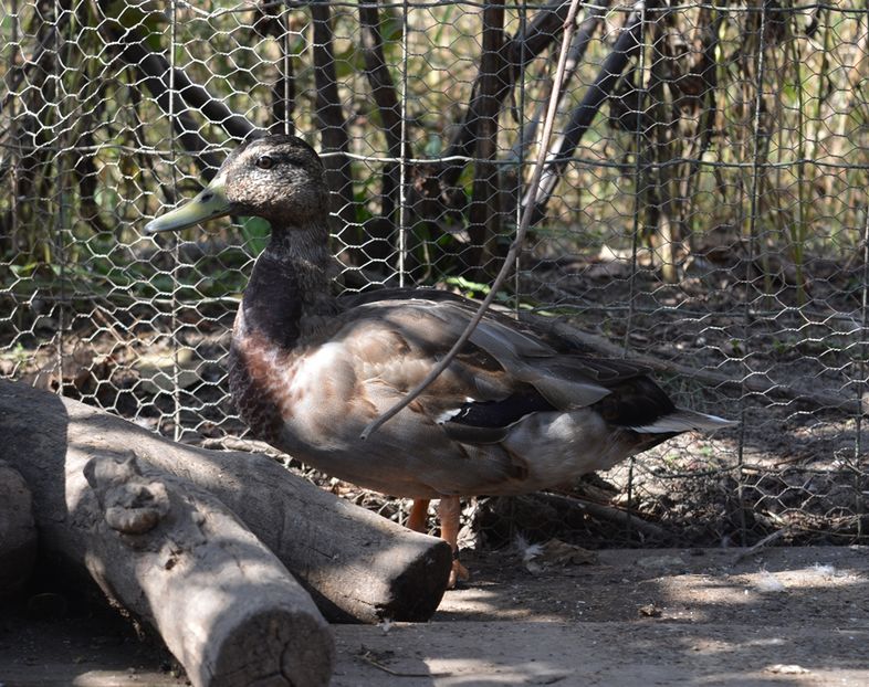
<path id="1" fill-rule="evenodd" d="M 328 229 L 325 223 L 272 231 L 244 289 L 237 335 L 259 336 L 292 348 L 305 319 L 334 308 L 327 277 Z"/>

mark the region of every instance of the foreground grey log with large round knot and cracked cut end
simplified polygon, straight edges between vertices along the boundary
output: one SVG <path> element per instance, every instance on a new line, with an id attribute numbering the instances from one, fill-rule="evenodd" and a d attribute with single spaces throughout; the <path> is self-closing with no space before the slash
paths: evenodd
<path id="1" fill-rule="evenodd" d="M 59 546 L 157 628 L 193 685 L 328 684 L 326 621 L 214 496 L 133 452 L 73 445 L 65 466 Z"/>

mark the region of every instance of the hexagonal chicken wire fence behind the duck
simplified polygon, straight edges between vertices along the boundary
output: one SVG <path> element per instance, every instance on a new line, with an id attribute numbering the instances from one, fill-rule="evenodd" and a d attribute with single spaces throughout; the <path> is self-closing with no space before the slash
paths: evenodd
<path id="1" fill-rule="evenodd" d="M 465 541 L 866 542 L 869 3 L 852 4 L 582 4 L 496 303 L 741 424 L 478 499 Z M 296 133 L 327 167 L 341 288 L 486 294 L 532 202 L 568 3 L 0 7 L 0 374 L 213 447 L 244 440 L 224 361 L 268 225 L 144 223 L 245 137 Z"/>

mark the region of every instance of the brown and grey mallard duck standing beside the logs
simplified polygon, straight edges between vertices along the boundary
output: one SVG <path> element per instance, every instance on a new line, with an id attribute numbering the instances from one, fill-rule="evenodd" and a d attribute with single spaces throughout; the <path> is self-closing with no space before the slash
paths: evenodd
<path id="1" fill-rule="evenodd" d="M 434 289 L 332 295 L 328 191 L 317 154 L 293 136 L 245 142 L 190 202 L 148 223 L 180 230 L 258 215 L 271 240 L 239 307 L 232 398 L 253 434 L 329 475 L 416 499 L 422 529 L 440 499 L 458 551 L 460 497 L 569 484 L 677 434 L 729 421 L 676 408 L 625 360 L 577 355 L 488 314 L 449 368 L 367 438 L 458 339 L 477 304 Z M 454 557 L 450 584 L 467 578 Z"/>

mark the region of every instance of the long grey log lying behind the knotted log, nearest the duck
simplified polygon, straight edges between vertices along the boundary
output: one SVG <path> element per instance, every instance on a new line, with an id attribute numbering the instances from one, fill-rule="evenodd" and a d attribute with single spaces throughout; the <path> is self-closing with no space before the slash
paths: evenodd
<path id="1" fill-rule="evenodd" d="M 132 450 L 140 462 L 203 487 L 296 574 L 328 620 L 422 622 L 447 588 L 449 545 L 327 494 L 265 456 L 177 444 L 7 381 L 0 381 L 0 435 L 32 454 L 28 468 L 35 472 L 56 474 L 71 447 Z"/>

